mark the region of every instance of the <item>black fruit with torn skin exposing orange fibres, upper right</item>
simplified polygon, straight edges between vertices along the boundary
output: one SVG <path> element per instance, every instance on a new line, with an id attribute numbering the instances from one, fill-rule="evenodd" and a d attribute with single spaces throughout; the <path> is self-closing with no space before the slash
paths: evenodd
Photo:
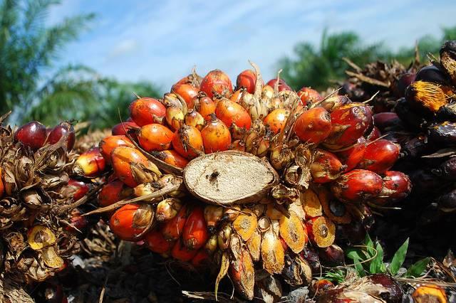
<path id="1" fill-rule="evenodd" d="M 449 100 L 442 88 L 434 83 L 416 81 L 405 91 L 405 99 L 416 110 L 430 110 L 437 112 Z"/>

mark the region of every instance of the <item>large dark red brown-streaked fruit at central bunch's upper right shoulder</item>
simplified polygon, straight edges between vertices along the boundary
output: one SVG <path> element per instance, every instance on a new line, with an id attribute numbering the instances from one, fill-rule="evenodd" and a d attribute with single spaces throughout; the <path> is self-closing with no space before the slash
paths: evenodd
<path id="1" fill-rule="evenodd" d="M 372 125 L 372 112 L 367 105 L 350 103 L 331 112 L 331 133 L 324 145 L 328 149 L 342 149 L 356 143 Z"/>

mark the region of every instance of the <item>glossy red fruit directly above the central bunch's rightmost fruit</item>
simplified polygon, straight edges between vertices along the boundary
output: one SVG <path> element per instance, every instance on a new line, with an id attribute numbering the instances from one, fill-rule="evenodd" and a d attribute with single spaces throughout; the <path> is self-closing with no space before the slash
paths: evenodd
<path id="1" fill-rule="evenodd" d="M 368 143 L 363 159 L 356 166 L 381 174 L 391 168 L 399 159 L 400 146 L 389 140 L 380 139 Z"/>

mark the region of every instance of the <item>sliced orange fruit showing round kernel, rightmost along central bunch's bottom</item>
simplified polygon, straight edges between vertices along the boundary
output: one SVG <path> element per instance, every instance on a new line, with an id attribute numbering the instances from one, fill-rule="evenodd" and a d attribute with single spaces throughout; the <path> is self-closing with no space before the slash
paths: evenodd
<path id="1" fill-rule="evenodd" d="M 336 225 L 324 216 L 311 218 L 306 221 L 309 240 L 318 248 L 327 248 L 336 238 Z"/>

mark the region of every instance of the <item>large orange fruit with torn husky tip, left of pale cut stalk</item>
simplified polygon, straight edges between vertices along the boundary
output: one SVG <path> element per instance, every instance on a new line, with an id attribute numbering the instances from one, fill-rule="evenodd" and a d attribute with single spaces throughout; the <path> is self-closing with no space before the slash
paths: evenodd
<path id="1" fill-rule="evenodd" d="M 115 175 L 130 187 L 157 181 L 161 176 L 157 166 L 133 147 L 116 147 L 111 153 L 111 159 Z"/>

